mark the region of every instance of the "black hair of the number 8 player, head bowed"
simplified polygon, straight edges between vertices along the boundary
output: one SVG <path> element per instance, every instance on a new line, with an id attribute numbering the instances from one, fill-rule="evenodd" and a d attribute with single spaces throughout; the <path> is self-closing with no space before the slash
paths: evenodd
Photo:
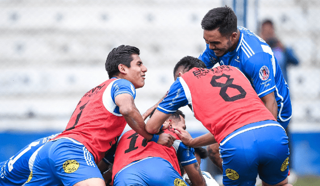
<path id="1" fill-rule="evenodd" d="M 194 58 L 192 56 L 185 56 L 177 62 L 173 69 L 173 77 L 176 79 L 178 76 L 179 71 L 187 72 L 190 69 L 197 67 L 197 68 L 206 68 L 205 64 L 199 60 L 198 58 Z"/>

